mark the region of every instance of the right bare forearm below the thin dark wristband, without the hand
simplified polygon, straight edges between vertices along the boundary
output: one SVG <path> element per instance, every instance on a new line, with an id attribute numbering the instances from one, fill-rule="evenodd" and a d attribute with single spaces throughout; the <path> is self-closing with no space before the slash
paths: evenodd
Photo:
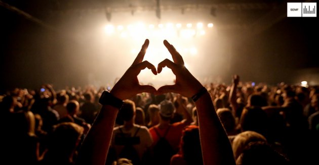
<path id="1" fill-rule="evenodd" d="M 235 164 L 230 142 L 208 92 L 195 102 L 204 164 Z"/>

